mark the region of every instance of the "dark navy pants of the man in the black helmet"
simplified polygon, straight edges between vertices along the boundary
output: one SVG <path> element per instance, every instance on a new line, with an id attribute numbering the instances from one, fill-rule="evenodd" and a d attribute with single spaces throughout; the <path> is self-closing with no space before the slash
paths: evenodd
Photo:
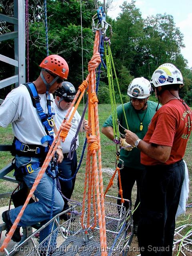
<path id="1" fill-rule="evenodd" d="M 67 158 L 66 154 L 64 154 L 62 163 L 58 164 L 58 170 L 61 171 L 60 177 L 63 179 L 70 179 L 73 176 L 73 174 L 77 170 L 76 151 L 74 152 L 74 156 L 72 160 Z M 75 185 L 75 179 L 76 177 L 68 181 L 59 180 L 61 185 L 61 192 L 68 199 L 70 199 L 72 196 L 74 185 Z M 68 200 L 64 199 L 64 203 L 65 204 L 64 204 L 63 211 L 69 208 Z"/>

